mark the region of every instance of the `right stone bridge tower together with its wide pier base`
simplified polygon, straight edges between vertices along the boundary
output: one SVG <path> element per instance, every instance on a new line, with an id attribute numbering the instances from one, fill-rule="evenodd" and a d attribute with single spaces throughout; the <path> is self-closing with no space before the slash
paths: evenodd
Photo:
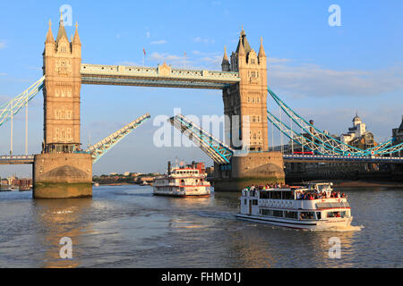
<path id="1" fill-rule="evenodd" d="M 230 119 L 225 124 L 227 144 L 243 152 L 233 156 L 231 164 L 215 164 L 214 190 L 239 191 L 253 184 L 284 182 L 281 153 L 268 152 L 267 57 L 262 38 L 256 54 L 242 29 L 236 52 L 228 60 L 225 50 L 221 67 L 222 71 L 238 71 L 241 77 L 239 83 L 223 90 L 222 97 L 224 114 Z"/>

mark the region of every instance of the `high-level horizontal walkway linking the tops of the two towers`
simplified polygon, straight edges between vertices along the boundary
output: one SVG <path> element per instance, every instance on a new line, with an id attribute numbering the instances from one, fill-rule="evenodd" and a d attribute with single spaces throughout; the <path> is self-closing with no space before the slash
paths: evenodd
<path id="1" fill-rule="evenodd" d="M 241 81 L 239 72 L 81 63 L 81 83 L 163 88 L 223 89 Z"/>

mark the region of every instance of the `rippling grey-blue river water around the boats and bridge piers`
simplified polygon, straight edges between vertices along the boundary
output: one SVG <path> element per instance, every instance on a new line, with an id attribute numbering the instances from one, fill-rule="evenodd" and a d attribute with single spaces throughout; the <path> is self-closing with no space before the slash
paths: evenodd
<path id="1" fill-rule="evenodd" d="M 93 188 L 93 198 L 0 193 L 0 267 L 402 267 L 403 189 L 343 189 L 355 231 L 298 231 L 236 220 L 238 194 L 152 196 Z M 73 258 L 59 256 L 73 241 Z M 340 258 L 330 258 L 330 238 Z"/>

